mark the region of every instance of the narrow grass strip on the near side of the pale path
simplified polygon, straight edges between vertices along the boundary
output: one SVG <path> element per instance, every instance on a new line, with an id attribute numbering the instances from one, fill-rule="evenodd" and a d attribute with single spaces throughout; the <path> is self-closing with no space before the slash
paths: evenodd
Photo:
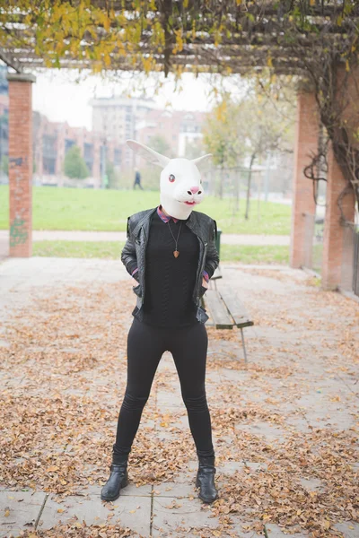
<path id="1" fill-rule="evenodd" d="M 118 259 L 124 246 L 115 241 L 35 241 L 33 256 Z M 221 245 L 221 261 L 243 264 L 288 264 L 289 247 Z"/>

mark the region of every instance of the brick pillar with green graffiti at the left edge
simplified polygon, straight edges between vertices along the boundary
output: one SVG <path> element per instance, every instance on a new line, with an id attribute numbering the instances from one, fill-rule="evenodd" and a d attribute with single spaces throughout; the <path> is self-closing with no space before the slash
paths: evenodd
<path id="1" fill-rule="evenodd" d="M 32 74 L 9 81 L 10 256 L 32 253 Z"/>

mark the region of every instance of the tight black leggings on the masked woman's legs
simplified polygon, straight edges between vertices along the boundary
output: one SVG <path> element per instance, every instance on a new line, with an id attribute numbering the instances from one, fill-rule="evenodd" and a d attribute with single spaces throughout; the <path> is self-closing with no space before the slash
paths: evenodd
<path id="1" fill-rule="evenodd" d="M 127 387 L 118 416 L 113 454 L 129 454 L 141 415 L 151 392 L 153 377 L 164 351 L 171 351 L 180 377 L 189 428 L 197 456 L 215 456 L 211 418 L 206 402 L 207 332 L 202 323 L 162 328 L 134 317 L 127 335 Z"/>

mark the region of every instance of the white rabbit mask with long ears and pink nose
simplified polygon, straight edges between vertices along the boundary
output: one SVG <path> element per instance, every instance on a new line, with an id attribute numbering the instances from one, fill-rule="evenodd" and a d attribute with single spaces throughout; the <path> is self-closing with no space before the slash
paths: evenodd
<path id="1" fill-rule="evenodd" d="M 197 166 L 212 157 L 212 154 L 207 153 L 191 161 L 183 158 L 169 159 L 135 140 L 127 140 L 127 145 L 146 161 L 162 168 L 160 199 L 164 211 L 175 219 L 188 219 L 194 207 L 204 198 Z"/>

